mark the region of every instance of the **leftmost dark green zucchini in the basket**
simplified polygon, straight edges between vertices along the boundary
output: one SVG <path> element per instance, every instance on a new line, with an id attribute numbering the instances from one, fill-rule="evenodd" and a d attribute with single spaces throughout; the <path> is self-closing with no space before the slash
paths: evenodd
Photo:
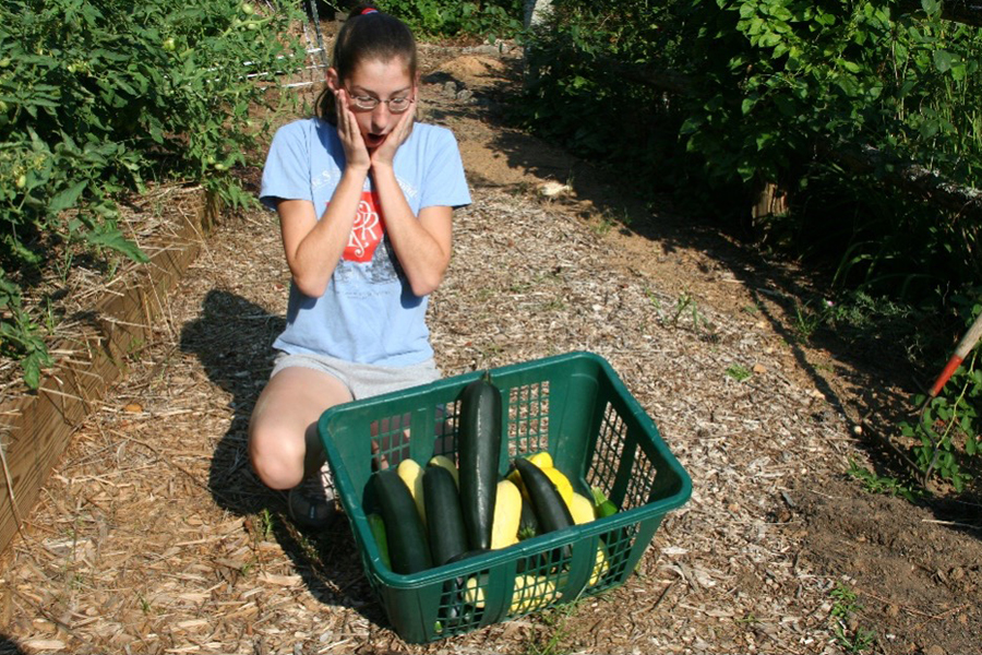
<path id="1" fill-rule="evenodd" d="M 388 558 L 395 573 L 416 573 L 432 565 L 427 531 L 409 488 L 394 468 L 372 474 L 375 500 L 382 510 Z"/>

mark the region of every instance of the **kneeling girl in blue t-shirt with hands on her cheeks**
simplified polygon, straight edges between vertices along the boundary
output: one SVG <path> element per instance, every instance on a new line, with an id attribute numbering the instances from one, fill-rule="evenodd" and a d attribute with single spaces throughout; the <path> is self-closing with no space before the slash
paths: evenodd
<path id="1" fill-rule="evenodd" d="M 249 456 L 264 484 L 290 489 L 307 527 L 335 515 L 321 414 L 440 377 L 427 299 L 450 263 L 453 210 L 470 194 L 453 134 L 415 122 L 418 82 L 408 27 L 355 8 L 316 117 L 280 128 L 263 170 L 260 199 L 279 215 L 292 281 Z"/>

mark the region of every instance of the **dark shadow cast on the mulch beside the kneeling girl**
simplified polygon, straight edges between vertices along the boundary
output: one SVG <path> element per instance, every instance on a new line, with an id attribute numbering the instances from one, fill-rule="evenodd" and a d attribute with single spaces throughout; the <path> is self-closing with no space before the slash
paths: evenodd
<path id="1" fill-rule="evenodd" d="M 322 534 L 298 531 L 288 517 L 285 493 L 265 487 L 249 465 L 249 417 L 273 369 L 271 344 L 284 325 L 283 317 L 241 296 L 211 290 L 200 318 L 181 332 L 181 349 L 195 355 L 208 379 L 231 395 L 232 419 L 215 448 L 208 490 L 220 508 L 244 517 L 254 538 L 275 539 L 315 597 L 384 623 L 347 521 L 339 519 Z"/>

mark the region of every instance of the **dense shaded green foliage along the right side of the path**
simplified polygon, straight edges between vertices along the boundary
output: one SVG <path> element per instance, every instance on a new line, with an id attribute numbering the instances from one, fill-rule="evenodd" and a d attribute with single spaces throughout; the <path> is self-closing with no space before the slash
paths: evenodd
<path id="1" fill-rule="evenodd" d="M 543 135 L 630 167 L 638 188 L 704 199 L 773 246 L 826 260 L 838 284 L 957 287 L 982 273 L 978 221 L 882 180 L 911 163 L 979 184 L 982 34 L 942 20 L 936 0 L 900 7 L 555 0 L 531 35 L 520 111 Z M 849 168 L 870 152 L 871 172 Z M 790 193 L 790 212 L 751 225 L 765 183 Z"/>

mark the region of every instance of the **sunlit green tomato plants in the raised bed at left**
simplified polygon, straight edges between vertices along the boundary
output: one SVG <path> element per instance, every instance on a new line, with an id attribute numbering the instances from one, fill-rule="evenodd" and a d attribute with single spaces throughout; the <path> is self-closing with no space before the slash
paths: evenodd
<path id="1" fill-rule="evenodd" d="M 145 255 L 117 200 L 147 180 L 249 202 L 229 168 L 262 138 L 253 74 L 302 56 L 292 10 L 239 0 L 11 0 L 0 8 L 0 355 L 49 364 L 24 290 L 56 248 Z M 286 58 L 286 59 L 283 59 Z M 71 210 L 68 212 L 68 210 Z"/>

